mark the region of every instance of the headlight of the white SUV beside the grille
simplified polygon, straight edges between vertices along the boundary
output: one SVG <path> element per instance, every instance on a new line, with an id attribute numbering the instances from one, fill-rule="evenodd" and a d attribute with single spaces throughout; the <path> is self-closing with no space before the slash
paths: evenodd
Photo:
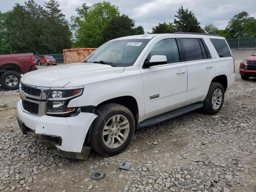
<path id="1" fill-rule="evenodd" d="M 76 108 L 68 108 L 68 103 L 70 100 L 82 95 L 83 90 L 84 88 L 50 90 L 48 93 L 46 114 L 55 116 L 71 114 Z"/>

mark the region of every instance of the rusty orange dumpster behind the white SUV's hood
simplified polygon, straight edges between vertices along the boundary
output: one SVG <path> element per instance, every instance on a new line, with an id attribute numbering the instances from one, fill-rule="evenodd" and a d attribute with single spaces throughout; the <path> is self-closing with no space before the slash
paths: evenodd
<path id="1" fill-rule="evenodd" d="M 64 63 L 82 62 L 88 55 L 90 55 L 96 48 L 72 48 L 64 49 Z"/>

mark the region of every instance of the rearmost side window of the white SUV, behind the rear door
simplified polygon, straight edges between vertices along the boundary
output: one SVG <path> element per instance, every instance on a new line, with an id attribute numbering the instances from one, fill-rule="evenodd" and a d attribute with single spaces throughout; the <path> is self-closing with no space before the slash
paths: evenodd
<path id="1" fill-rule="evenodd" d="M 210 39 L 219 57 L 231 57 L 228 44 L 224 39 Z"/>

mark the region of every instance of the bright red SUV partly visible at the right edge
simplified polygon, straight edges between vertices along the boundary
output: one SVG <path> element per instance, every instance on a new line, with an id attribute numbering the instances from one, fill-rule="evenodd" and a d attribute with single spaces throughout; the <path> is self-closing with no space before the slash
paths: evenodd
<path id="1" fill-rule="evenodd" d="M 241 62 L 239 72 L 244 80 L 249 77 L 256 77 L 256 52 Z"/>

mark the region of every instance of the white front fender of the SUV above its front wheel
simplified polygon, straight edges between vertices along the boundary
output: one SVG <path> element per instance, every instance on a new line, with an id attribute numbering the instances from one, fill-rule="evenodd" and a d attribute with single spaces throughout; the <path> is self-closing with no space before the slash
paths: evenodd
<path id="1" fill-rule="evenodd" d="M 84 85 L 82 96 L 72 99 L 68 107 L 98 106 L 106 100 L 121 96 L 135 98 L 139 110 L 138 121 L 144 120 L 144 89 L 141 74 Z"/>

